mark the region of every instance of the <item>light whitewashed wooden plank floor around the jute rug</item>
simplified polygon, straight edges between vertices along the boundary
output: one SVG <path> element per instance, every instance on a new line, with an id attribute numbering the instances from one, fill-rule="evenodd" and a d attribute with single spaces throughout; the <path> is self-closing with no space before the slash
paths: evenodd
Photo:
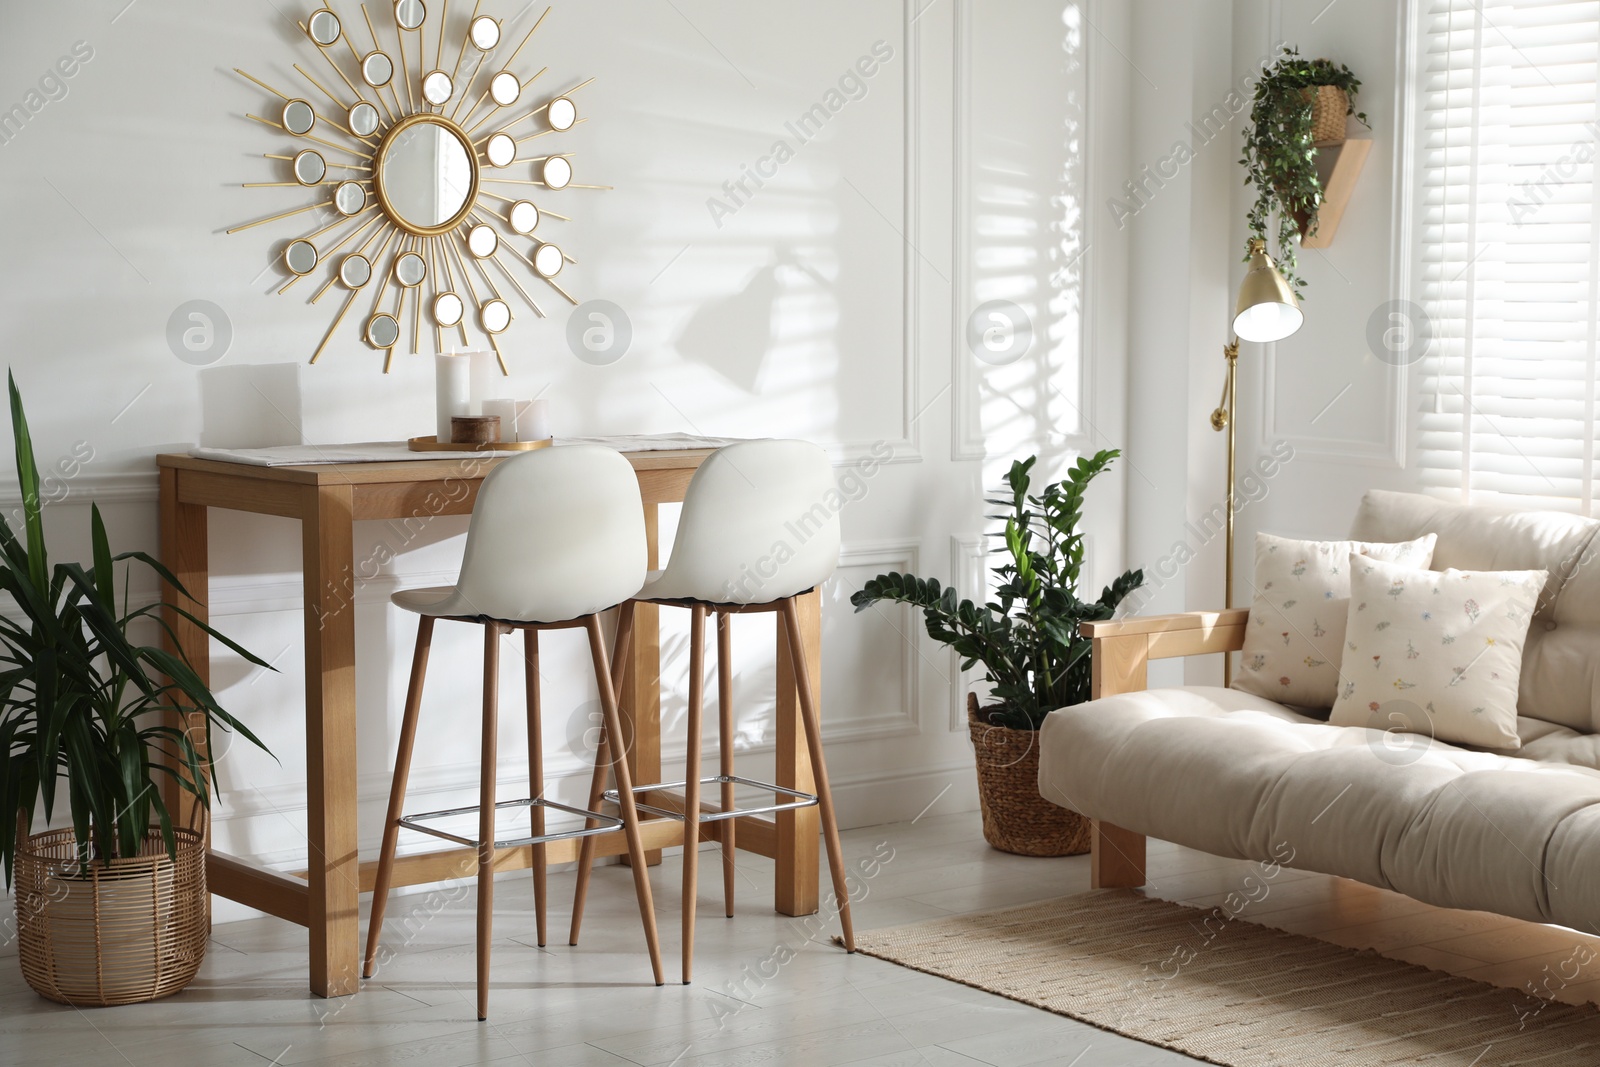
<path id="1" fill-rule="evenodd" d="M 984 910 L 1088 888 L 1086 857 L 989 849 L 974 813 L 851 830 L 853 859 L 893 857 L 867 881 L 858 926 Z M 678 862 L 653 872 L 669 974 L 677 971 Z M 741 856 L 741 913 L 722 917 L 718 865 L 702 861 L 694 985 L 656 989 L 624 869 L 597 872 L 584 942 L 565 944 L 573 878 L 554 875 L 552 944 L 533 947 L 530 878 L 496 886 L 490 1021 L 474 1019 L 472 894 L 395 897 L 397 955 L 357 997 L 306 992 L 306 931 L 262 918 L 216 926 L 200 977 L 152 1005 L 77 1011 L 29 990 L 0 960 L 0 1064 L 264 1067 L 266 1064 L 755 1065 L 1194 1064 L 1024 1005 L 827 944 L 771 912 L 771 865 Z M 1240 891 L 1251 865 L 1150 846 L 1150 893 L 1197 905 Z M 1254 896 L 1261 896 L 1259 891 Z M 10 905 L 6 909 L 10 915 Z M 1600 939 L 1477 912 L 1445 912 L 1338 878 L 1282 872 L 1242 918 L 1520 987 L 1582 945 L 1595 958 L 1555 989 L 1600 995 Z M 365 921 L 363 921 L 365 929 Z M 10 925 L 6 926 L 10 931 Z M 405 942 L 405 944 L 402 944 Z M 14 955 L 14 944 L 0 952 Z M 1568 973 L 1571 969 L 1568 968 Z M 1550 987 L 1557 987 L 1552 981 Z M 1536 1006 L 1536 1001 L 1530 1001 Z"/>

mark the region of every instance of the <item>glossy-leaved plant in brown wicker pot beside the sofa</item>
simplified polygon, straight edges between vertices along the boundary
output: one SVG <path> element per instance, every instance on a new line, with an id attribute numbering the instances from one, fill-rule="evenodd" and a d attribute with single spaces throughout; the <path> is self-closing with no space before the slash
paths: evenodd
<path id="1" fill-rule="evenodd" d="M 1037 456 L 1011 464 L 1010 496 L 990 499 L 1008 509 L 1005 561 L 994 600 L 958 600 L 938 579 L 878 574 L 850 600 L 856 611 L 888 600 L 922 608 L 928 637 L 954 648 L 962 670 L 984 665 L 994 704 L 966 696 L 968 728 L 978 758 L 978 795 L 984 840 L 1022 856 L 1074 856 L 1090 848 L 1088 819 L 1038 795 L 1038 728 L 1058 707 L 1090 699 L 1093 643 L 1078 624 L 1109 619 L 1144 582 L 1126 571 L 1096 600 L 1078 598 L 1083 569 L 1083 494 L 1122 453 L 1080 458 L 1061 482 L 1029 493 Z"/>

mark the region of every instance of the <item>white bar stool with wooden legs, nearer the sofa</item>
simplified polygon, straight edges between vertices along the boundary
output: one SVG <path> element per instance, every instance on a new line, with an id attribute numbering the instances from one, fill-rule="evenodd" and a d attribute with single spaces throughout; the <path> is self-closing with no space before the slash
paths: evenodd
<path id="1" fill-rule="evenodd" d="M 632 785 L 635 793 L 683 789 L 683 811 L 637 803 L 637 809 L 683 821 L 683 982 L 694 961 L 694 902 L 699 878 L 699 824 L 722 822 L 723 904 L 733 915 L 734 819 L 746 814 L 821 808 L 827 862 L 843 926 L 845 949 L 856 950 L 850 920 L 845 857 L 834 816 L 834 795 L 822 758 L 822 731 L 806 669 L 795 597 L 811 592 L 838 566 L 838 514 L 826 502 L 837 494 L 834 470 L 824 453 L 808 442 L 758 440 L 728 445 L 712 453 L 694 472 L 683 496 L 683 512 L 672 558 L 651 576 L 634 601 L 622 606 L 618 640 L 632 627 L 634 603 L 690 609 L 688 766 L 683 782 Z M 779 549 L 781 545 L 781 549 Z M 733 651 L 730 616 L 776 611 L 787 635 L 789 656 L 800 697 L 800 718 L 816 777 L 816 793 L 757 782 L 733 773 Z M 717 694 L 720 712 L 718 773 L 701 777 L 701 702 L 706 661 L 706 616 L 717 616 Z M 595 763 L 589 808 L 602 800 L 626 805 L 629 784 L 605 789 L 605 768 Z M 720 789 L 720 808 L 701 811 L 701 785 Z M 776 795 L 774 803 L 734 806 L 734 787 L 746 785 Z M 578 893 L 573 901 L 571 944 L 578 944 L 584 894 L 594 845 L 584 841 L 578 861 Z"/>

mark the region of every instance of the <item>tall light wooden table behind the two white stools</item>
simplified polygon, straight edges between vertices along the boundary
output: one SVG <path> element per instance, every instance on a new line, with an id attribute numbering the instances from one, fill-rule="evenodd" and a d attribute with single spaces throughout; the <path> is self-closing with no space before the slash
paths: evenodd
<path id="1" fill-rule="evenodd" d="M 638 474 L 650 537 L 650 566 L 658 563 L 658 512 L 683 499 L 694 469 L 709 450 L 624 453 Z M 483 477 L 504 459 L 451 458 L 403 462 L 318 464 L 259 467 L 190 456 L 158 456 L 162 477 L 162 558 L 195 597 L 206 597 L 210 569 L 206 509 L 219 507 L 301 522 L 306 589 L 306 835 L 307 870 L 302 875 L 259 867 L 211 851 L 206 878 L 211 893 L 248 904 L 310 929 L 310 989 L 322 997 L 360 990 L 358 894 L 373 888 L 378 862 L 357 856 L 355 768 L 355 587 L 354 523 L 365 518 L 419 520 L 467 515 Z M 178 600 L 168 590 L 170 600 Z M 205 603 L 184 606 L 208 619 Z M 205 633 L 174 611 L 165 614 L 178 645 L 210 683 L 210 643 Z M 821 600 L 800 600 L 811 685 L 821 691 Z M 779 619 L 779 627 L 782 621 Z M 622 729 L 635 782 L 661 781 L 661 637 L 658 609 L 640 605 L 634 651 L 622 685 Z M 250 728 L 272 744 L 277 723 L 259 718 Z M 811 765 L 797 713 L 794 672 L 778 632 L 778 773 L 779 784 L 811 790 Z M 672 806 L 674 797 L 651 795 Z M 168 789 L 166 803 L 187 816 L 194 798 Z M 678 800 L 682 809 L 682 800 Z M 778 861 L 774 907 L 784 915 L 818 910 L 816 808 L 779 813 L 773 819 L 739 817 L 734 830 L 742 849 Z M 702 822 L 701 838 L 717 840 L 722 822 Z M 645 845 L 680 845 L 683 827 L 672 819 L 645 825 Z M 595 838 L 598 854 L 626 851 L 621 833 Z M 547 846 L 549 862 L 576 859 L 576 841 Z M 496 867 L 531 865 L 533 849 L 502 849 Z M 395 865 L 395 885 L 418 885 L 466 877 L 470 849 L 405 856 Z"/>

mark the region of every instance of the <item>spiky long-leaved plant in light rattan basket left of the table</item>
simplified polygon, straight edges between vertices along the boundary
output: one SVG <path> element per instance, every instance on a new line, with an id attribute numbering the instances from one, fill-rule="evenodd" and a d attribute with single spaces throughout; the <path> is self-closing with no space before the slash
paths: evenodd
<path id="1" fill-rule="evenodd" d="M 99 507 L 93 565 L 45 550 L 40 477 L 16 381 L 10 382 L 22 537 L 0 517 L 0 861 L 16 880 L 18 957 L 27 984 L 75 1006 L 176 993 L 205 957 L 205 840 L 173 825 L 158 785 L 176 781 L 210 809 L 211 728 L 256 737 L 216 702 L 181 653 L 141 645 L 165 629 L 163 605 L 131 608 L 138 563 L 189 593 L 142 552 L 112 555 Z M 117 574 L 123 568 L 118 601 Z M 267 664 L 176 605 L 251 664 Z M 176 641 L 174 641 L 176 645 Z M 72 825 L 32 833 L 66 792 Z"/>

